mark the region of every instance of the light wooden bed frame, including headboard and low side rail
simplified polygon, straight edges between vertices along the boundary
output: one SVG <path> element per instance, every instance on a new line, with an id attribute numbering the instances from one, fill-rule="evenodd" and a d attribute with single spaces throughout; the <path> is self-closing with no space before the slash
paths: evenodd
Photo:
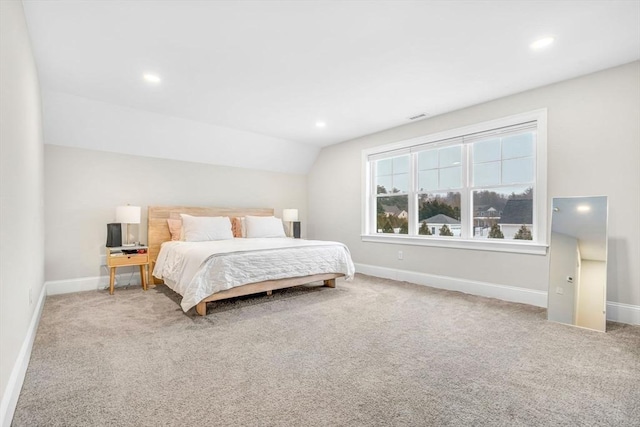
<path id="1" fill-rule="evenodd" d="M 193 216 L 228 216 L 242 217 L 246 215 L 252 216 L 272 216 L 273 209 L 268 208 L 206 208 L 206 207 L 189 207 L 189 206 L 149 206 L 147 221 L 147 238 L 149 239 L 149 263 L 151 271 L 155 267 L 158 253 L 160 253 L 160 245 L 163 242 L 171 240 L 167 219 L 180 219 L 180 214 Z M 227 289 L 225 291 L 211 294 L 196 305 L 196 312 L 200 316 L 207 314 L 207 302 L 218 301 L 221 299 L 239 297 L 243 295 L 257 294 L 266 292 L 271 295 L 274 289 L 290 288 L 292 286 L 303 285 L 306 283 L 322 280 L 324 286 L 335 288 L 336 278 L 344 276 L 341 273 L 316 274 L 313 276 L 291 277 L 280 280 L 267 280 L 264 282 L 249 283 L 243 286 Z M 162 281 L 152 277 L 152 284 L 161 284 Z"/>

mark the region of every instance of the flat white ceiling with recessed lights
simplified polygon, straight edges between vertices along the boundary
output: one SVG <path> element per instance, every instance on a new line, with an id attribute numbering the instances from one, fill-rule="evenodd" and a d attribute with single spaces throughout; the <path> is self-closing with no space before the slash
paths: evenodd
<path id="1" fill-rule="evenodd" d="M 315 146 L 640 58 L 637 0 L 23 3 L 43 90 Z"/>

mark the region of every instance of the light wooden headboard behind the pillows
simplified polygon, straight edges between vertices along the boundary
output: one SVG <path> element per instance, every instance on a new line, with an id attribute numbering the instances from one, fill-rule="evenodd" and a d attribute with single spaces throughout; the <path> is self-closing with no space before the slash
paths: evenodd
<path id="1" fill-rule="evenodd" d="M 147 222 L 147 239 L 149 239 L 149 262 L 151 268 L 156 263 L 160 245 L 171 240 L 167 219 L 180 219 L 184 213 L 193 216 L 272 216 L 271 208 L 206 208 L 191 206 L 149 206 Z"/>

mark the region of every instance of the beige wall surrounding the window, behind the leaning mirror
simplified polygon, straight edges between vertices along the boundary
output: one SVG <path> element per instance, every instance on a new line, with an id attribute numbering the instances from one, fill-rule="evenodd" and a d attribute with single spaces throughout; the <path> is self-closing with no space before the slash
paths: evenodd
<path id="1" fill-rule="evenodd" d="M 357 263 L 546 291 L 548 256 L 360 239 L 362 149 L 539 108 L 548 109 L 548 199 L 609 196 L 607 299 L 640 305 L 640 62 L 324 148 L 308 176 L 309 236 L 347 243 Z"/>

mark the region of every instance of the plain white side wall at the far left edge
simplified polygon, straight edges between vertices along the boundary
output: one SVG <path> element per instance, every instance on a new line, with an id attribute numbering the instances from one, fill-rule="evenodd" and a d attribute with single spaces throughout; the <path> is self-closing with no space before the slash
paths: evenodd
<path id="1" fill-rule="evenodd" d="M 19 1 L 0 2 L 0 92 L 1 425 L 13 414 L 24 378 L 44 284 L 40 89 Z"/>

